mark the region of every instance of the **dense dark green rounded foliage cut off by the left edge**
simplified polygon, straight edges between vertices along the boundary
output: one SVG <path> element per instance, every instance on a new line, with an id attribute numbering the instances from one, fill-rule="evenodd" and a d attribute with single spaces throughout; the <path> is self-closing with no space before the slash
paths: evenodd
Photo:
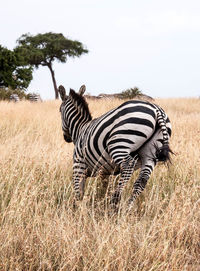
<path id="1" fill-rule="evenodd" d="M 0 86 L 26 89 L 32 80 L 32 67 L 22 55 L 0 45 Z"/>

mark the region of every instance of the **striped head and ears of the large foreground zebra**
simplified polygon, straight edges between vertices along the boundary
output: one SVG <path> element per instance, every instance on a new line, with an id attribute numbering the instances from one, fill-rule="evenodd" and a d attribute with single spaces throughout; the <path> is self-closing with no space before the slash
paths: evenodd
<path id="1" fill-rule="evenodd" d="M 85 85 L 80 87 L 79 93 L 76 93 L 78 96 L 82 96 L 86 90 Z M 58 92 L 60 94 L 60 97 L 62 99 L 62 104 L 60 106 L 60 112 L 61 112 L 61 119 L 62 119 L 62 130 L 63 130 L 63 136 L 64 140 L 67 143 L 71 143 L 73 141 L 73 127 L 71 125 L 72 123 L 72 115 L 74 110 L 74 104 L 71 95 L 66 95 L 65 88 L 63 86 L 59 86 Z M 70 93 L 74 92 L 73 90 L 70 90 Z M 75 92 L 74 92 L 75 93 Z"/>

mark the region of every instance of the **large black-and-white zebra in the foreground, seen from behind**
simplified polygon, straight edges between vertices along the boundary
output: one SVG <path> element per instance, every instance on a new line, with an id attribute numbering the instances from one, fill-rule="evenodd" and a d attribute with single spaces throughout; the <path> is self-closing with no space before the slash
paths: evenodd
<path id="1" fill-rule="evenodd" d="M 79 93 L 70 89 L 69 96 L 63 86 L 58 90 L 64 139 L 75 145 L 73 183 L 77 200 L 83 197 L 87 177 L 120 173 L 111 198 L 115 205 L 134 168 L 141 168 L 129 199 L 131 205 L 144 190 L 156 163 L 169 159 L 169 118 L 158 105 L 131 100 L 92 119 L 83 97 L 84 85 Z"/>

